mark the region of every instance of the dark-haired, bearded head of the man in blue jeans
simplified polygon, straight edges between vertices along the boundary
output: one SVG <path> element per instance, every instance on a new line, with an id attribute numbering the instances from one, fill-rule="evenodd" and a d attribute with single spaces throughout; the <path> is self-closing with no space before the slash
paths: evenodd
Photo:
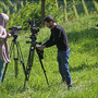
<path id="1" fill-rule="evenodd" d="M 45 25 L 49 28 L 52 28 L 53 23 L 54 23 L 54 19 L 52 17 L 52 15 L 47 15 L 45 19 Z"/>

